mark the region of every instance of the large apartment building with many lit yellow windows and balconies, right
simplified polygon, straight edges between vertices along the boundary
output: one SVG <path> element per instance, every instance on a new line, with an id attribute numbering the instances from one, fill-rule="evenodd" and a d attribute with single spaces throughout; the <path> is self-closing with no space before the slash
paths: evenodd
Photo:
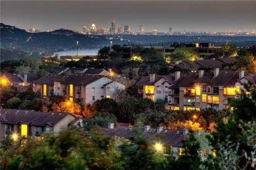
<path id="1" fill-rule="evenodd" d="M 240 97 L 240 90 L 248 81 L 256 86 L 256 74 L 214 68 L 188 74 L 180 71 L 166 76 L 153 74 L 142 77 L 137 85 L 143 98 L 164 99 L 168 109 L 187 111 L 211 107 L 221 110 L 229 107 L 228 98 Z"/>

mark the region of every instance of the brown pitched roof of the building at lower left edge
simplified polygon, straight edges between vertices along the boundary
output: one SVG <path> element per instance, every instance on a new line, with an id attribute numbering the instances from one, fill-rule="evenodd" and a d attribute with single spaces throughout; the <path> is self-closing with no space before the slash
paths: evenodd
<path id="1" fill-rule="evenodd" d="M 20 109 L 0 109 L 1 123 L 8 124 L 30 124 L 32 126 L 54 127 L 69 113 L 42 113 L 37 111 L 20 110 Z"/>

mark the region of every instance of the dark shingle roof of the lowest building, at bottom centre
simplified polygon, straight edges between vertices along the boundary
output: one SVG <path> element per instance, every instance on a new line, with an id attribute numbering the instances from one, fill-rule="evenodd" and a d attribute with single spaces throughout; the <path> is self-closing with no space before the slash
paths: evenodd
<path id="1" fill-rule="evenodd" d="M 158 142 L 160 140 L 164 145 L 183 146 L 182 140 L 185 136 L 183 135 L 182 130 L 163 129 L 160 133 L 157 133 L 156 129 L 152 128 L 147 132 L 144 132 L 144 128 L 141 130 L 150 142 Z M 121 126 L 115 127 L 114 129 L 102 128 L 102 132 L 111 137 L 119 136 L 124 138 L 134 138 L 135 128 Z"/>

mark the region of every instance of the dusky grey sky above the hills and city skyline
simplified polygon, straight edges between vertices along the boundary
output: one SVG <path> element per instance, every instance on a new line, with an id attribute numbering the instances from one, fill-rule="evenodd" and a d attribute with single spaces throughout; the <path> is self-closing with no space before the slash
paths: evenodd
<path id="1" fill-rule="evenodd" d="M 112 18 L 116 30 L 128 24 L 138 32 L 141 24 L 151 32 L 256 30 L 256 1 L 0 1 L 1 23 L 27 30 L 104 27 Z"/>

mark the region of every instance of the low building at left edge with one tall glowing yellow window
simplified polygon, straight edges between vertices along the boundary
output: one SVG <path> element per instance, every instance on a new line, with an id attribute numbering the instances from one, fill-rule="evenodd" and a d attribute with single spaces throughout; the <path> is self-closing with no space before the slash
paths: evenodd
<path id="1" fill-rule="evenodd" d="M 21 109 L 0 109 L 0 136 L 11 134 L 13 139 L 20 136 L 36 137 L 40 140 L 42 134 L 68 128 L 76 118 L 69 113 L 42 113 Z"/>

